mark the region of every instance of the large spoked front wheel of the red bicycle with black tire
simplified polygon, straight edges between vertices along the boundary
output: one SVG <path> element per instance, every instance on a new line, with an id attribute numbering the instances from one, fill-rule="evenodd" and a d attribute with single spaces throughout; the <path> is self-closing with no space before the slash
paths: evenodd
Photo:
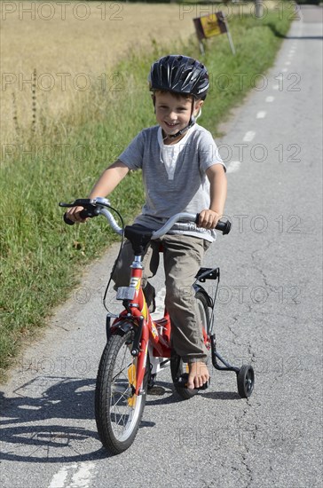
<path id="1" fill-rule="evenodd" d="M 98 366 L 95 391 L 95 418 L 98 436 L 113 454 L 125 451 L 133 443 L 146 404 L 145 374 L 143 393 L 136 388 L 137 358 L 131 353 L 133 332 L 112 335 Z"/>

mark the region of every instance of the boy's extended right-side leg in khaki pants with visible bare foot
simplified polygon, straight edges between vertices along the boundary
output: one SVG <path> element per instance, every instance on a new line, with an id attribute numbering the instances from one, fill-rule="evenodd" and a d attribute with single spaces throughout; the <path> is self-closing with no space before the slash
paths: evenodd
<path id="1" fill-rule="evenodd" d="M 202 324 L 198 322 L 193 282 L 209 242 L 182 234 L 162 238 L 166 274 L 166 308 L 172 323 L 172 341 L 177 354 L 189 364 L 189 388 L 209 379 Z"/>

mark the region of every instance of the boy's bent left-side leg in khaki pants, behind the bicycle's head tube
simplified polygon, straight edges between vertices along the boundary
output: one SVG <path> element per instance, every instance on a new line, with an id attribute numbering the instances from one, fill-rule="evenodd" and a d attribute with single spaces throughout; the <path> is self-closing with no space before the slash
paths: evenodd
<path id="1" fill-rule="evenodd" d="M 112 279 L 114 280 L 114 289 L 118 287 L 128 287 L 130 282 L 130 265 L 133 262 L 134 254 L 129 240 L 126 240 L 121 255 L 115 265 Z M 154 287 L 147 281 L 157 272 L 159 264 L 159 244 L 151 242 L 147 245 L 145 256 L 143 257 L 143 290 L 146 298 L 146 303 L 150 311 L 154 308 Z"/>

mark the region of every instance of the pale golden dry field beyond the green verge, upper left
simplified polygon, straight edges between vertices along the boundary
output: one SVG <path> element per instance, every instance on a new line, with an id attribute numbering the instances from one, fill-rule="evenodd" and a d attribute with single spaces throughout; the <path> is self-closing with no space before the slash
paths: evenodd
<path id="1" fill-rule="evenodd" d="M 3 142 L 12 142 L 17 127 L 32 124 L 34 113 L 57 122 L 91 90 L 120 89 L 120 79 L 109 75 L 109 67 L 131 50 L 152 49 L 152 39 L 167 46 L 194 33 L 196 12 L 180 12 L 177 4 L 51 5 L 1 4 Z"/>

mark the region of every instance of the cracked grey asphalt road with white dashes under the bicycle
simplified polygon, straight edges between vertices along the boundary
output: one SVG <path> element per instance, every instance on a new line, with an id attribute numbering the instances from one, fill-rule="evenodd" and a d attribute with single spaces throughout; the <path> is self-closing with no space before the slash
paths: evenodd
<path id="1" fill-rule="evenodd" d="M 303 9 L 271 72 L 217 140 L 233 228 L 205 264 L 222 272 L 218 348 L 237 366 L 253 364 L 252 397 L 240 399 L 235 374 L 213 371 L 209 390 L 181 402 L 166 370 L 135 444 L 106 455 L 93 390 L 114 247 L 1 389 L 4 488 L 322 485 L 321 13 Z"/>

